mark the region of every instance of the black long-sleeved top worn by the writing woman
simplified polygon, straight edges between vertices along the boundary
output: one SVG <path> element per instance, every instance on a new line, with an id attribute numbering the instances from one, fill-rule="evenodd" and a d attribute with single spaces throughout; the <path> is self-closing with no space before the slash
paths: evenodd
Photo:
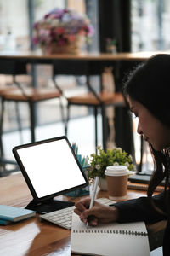
<path id="1" fill-rule="evenodd" d="M 153 196 L 153 200 L 157 207 L 166 211 L 164 194 Z M 119 209 L 120 223 L 144 221 L 146 223 L 155 223 L 157 221 L 167 219 L 167 217 L 151 207 L 148 197 L 139 197 L 137 199 L 117 202 L 115 206 Z M 163 238 L 163 256 L 170 255 L 170 218 L 167 219 L 167 227 Z"/>

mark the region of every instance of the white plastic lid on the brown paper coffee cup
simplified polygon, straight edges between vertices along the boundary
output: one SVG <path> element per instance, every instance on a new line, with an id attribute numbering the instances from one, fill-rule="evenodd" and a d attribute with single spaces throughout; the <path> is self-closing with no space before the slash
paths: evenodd
<path id="1" fill-rule="evenodd" d="M 129 174 L 127 166 L 107 166 L 105 175 L 107 176 L 125 176 Z"/>

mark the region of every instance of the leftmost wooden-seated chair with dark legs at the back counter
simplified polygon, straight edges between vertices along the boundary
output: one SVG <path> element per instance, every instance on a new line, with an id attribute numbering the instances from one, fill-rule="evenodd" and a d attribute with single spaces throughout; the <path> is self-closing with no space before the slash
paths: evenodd
<path id="1" fill-rule="evenodd" d="M 35 128 L 36 128 L 36 116 L 35 116 L 35 104 L 37 102 L 47 101 L 50 99 L 59 99 L 62 121 L 64 122 L 64 113 L 62 102 L 60 101 L 61 92 L 54 88 L 25 88 L 17 80 L 16 76 L 21 74 L 27 74 L 26 63 L 24 62 L 9 62 L 13 65 L 10 73 L 6 71 L 6 74 L 11 74 L 14 78 L 14 90 L 4 90 L 1 95 L 1 119 L 0 119 L 0 137 L 3 135 L 3 121 L 4 121 L 4 103 L 5 102 L 26 102 L 29 105 L 30 113 L 30 128 L 31 128 L 31 142 L 35 142 Z M 6 63 L 7 64 L 7 63 Z M 1 66 L 1 63 L 0 63 Z M 1 68 L 0 68 L 1 69 Z M 0 70 L 1 73 L 1 70 Z M 1 156 L 3 156 L 3 143 L 1 142 Z"/>

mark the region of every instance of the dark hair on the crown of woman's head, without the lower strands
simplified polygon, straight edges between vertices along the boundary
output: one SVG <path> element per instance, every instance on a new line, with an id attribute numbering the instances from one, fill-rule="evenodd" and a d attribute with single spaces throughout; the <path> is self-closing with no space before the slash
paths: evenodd
<path id="1" fill-rule="evenodd" d="M 170 55 L 154 55 L 130 74 L 124 92 L 170 128 Z"/>

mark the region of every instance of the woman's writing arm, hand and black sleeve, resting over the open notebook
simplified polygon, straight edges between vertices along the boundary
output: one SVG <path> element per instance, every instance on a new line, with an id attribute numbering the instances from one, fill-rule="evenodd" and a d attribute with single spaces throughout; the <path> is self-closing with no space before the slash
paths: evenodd
<path id="1" fill-rule="evenodd" d="M 163 194 L 153 197 L 157 207 L 164 209 L 164 197 Z M 156 212 L 150 205 L 148 197 L 139 197 L 138 199 L 132 199 L 128 201 L 117 202 L 110 207 L 94 202 L 94 207 L 89 209 L 90 198 L 82 199 L 75 204 L 75 210 L 81 220 L 84 223 L 97 225 L 100 223 L 109 222 L 133 222 L 133 221 L 145 221 L 156 222 L 162 219 L 166 219 L 166 216 Z M 93 217 L 93 218 L 92 218 Z"/>

